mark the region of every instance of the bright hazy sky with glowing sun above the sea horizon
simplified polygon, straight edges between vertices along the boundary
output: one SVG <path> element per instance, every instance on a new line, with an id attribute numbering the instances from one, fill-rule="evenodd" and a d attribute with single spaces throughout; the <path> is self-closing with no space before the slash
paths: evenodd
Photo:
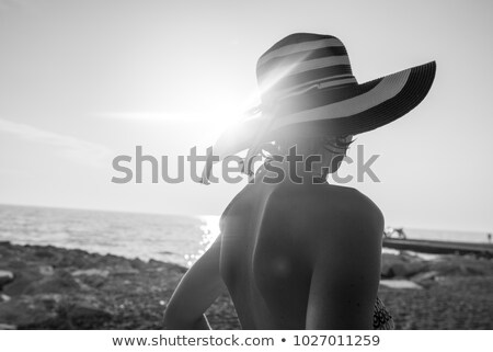
<path id="1" fill-rule="evenodd" d="M 204 151 L 255 102 L 260 55 L 311 32 L 345 44 L 358 82 L 437 63 L 422 104 L 357 136 L 365 155 L 380 155 L 381 182 L 348 185 L 387 225 L 493 231 L 492 10 L 456 0 L 0 0 L 0 203 L 220 215 L 245 181 L 115 184 L 112 161 L 141 146 L 176 171 L 177 156 Z"/>

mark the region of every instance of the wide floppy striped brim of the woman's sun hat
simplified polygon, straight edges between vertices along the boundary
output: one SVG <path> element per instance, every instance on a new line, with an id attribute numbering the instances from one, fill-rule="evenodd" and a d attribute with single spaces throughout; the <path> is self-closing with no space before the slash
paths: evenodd
<path id="1" fill-rule="evenodd" d="M 435 72 L 436 63 L 431 61 L 349 87 L 339 101 L 317 96 L 317 106 L 284 112 L 274 122 L 270 122 L 272 116 L 266 115 L 251 118 L 226 130 L 213 147 L 213 152 L 223 158 L 250 148 L 255 140 L 264 143 L 286 136 L 357 135 L 381 127 L 402 117 L 423 101 L 433 84 Z M 329 96 L 334 92 L 316 91 L 314 94 Z M 259 136 L 265 124 L 270 124 L 270 128 Z"/>

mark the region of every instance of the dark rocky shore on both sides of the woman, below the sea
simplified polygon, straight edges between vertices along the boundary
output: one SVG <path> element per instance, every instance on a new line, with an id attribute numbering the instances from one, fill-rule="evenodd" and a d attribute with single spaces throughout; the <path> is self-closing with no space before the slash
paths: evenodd
<path id="1" fill-rule="evenodd" d="M 493 260 L 383 253 L 379 296 L 397 329 L 493 329 Z M 0 328 L 161 329 L 186 268 L 80 249 L 0 242 Z M 409 287 L 409 288 L 404 288 Z M 227 292 L 206 315 L 240 329 Z"/>

